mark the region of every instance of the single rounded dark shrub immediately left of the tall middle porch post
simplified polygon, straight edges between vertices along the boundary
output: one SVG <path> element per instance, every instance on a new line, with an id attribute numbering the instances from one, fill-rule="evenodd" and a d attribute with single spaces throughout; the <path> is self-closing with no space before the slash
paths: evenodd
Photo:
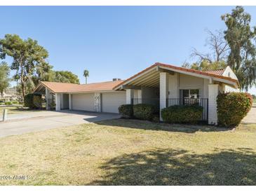
<path id="1" fill-rule="evenodd" d="M 150 121 L 156 113 L 156 107 L 151 104 L 133 105 L 133 116 L 138 119 Z"/>

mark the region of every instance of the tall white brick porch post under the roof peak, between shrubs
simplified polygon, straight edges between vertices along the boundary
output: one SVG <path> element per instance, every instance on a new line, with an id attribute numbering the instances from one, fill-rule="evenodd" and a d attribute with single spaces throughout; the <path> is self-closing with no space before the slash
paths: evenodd
<path id="1" fill-rule="evenodd" d="M 163 121 L 161 117 L 161 109 L 166 108 L 166 100 L 168 98 L 168 73 L 160 73 L 160 121 Z"/>

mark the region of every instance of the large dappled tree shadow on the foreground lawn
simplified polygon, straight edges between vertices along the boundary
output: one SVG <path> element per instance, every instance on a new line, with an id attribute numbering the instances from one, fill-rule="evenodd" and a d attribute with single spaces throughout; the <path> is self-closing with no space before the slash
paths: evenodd
<path id="1" fill-rule="evenodd" d="M 112 158 L 105 174 L 90 185 L 255 185 L 252 149 L 215 149 L 198 155 L 185 150 L 155 149 Z"/>

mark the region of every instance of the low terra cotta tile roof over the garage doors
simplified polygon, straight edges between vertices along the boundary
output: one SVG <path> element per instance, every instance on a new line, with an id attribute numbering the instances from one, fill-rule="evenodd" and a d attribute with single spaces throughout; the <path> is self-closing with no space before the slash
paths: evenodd
<path id="1" fill-rule="evenodd" d="M 90 91 L 106 91 L 113 88 L 123 81 L 107 81 L 100 83 L 74 84 L 74 83 L 57 83 L 41 81 L 41 85 L 52 90 L 53 92 L 90 92 Z"/>

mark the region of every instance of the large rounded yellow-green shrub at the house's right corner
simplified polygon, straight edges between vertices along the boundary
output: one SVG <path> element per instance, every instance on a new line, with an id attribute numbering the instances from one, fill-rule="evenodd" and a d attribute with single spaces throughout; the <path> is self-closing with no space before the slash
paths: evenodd
<path id="1" fill-rule="evenodd" d="M 250 97 L 244 92 L 220 93 L 217 96 L 219 125 L 227 128 L 238 125 L 251 107 Z"/>

